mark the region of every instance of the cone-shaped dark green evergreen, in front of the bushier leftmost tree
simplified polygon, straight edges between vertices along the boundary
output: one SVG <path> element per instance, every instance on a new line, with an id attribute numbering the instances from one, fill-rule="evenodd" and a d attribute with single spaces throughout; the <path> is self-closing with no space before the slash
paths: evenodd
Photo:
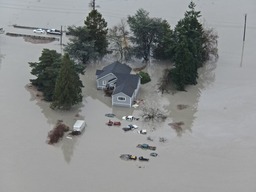
<path id="1" fill-rule="evenodd" d="M 66 53 L 63 56 L 51 108 L 69 110 L 82 101 L 82 82 L 75 71 L 75 65 Z"/>

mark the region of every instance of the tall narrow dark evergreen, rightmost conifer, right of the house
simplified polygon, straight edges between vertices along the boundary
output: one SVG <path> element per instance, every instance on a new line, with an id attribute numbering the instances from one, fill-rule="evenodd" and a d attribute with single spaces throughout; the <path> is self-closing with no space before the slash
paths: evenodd
<path id="1" fill-rule="evenodd" d="M 179 90 L 197 83 L 197 69 L 203 63 L 203 27 L 198 21 L 200 12 L 195 11 L 192 1 L 189 9 L 175 26 L 173 35 L 175 68 L 170 74 Z"/>

